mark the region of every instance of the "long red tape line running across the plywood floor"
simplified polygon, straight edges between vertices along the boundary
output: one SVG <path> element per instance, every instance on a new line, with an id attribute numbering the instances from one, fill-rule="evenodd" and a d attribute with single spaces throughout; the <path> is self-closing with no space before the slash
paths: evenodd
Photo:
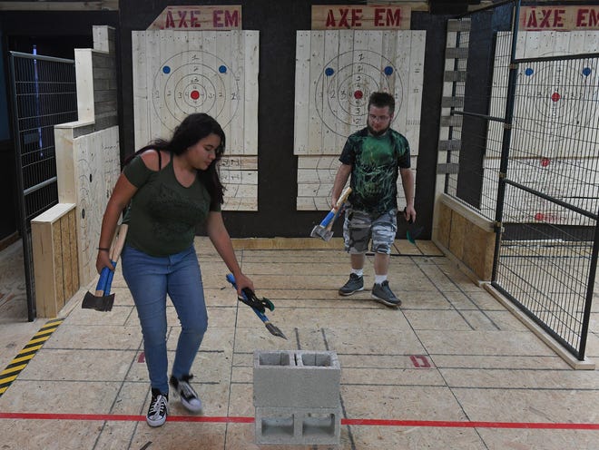
<path id="1" fill-rule="evenodd" d="M 44 414 L 0 413 L 0 419 L 25 420 L 102 420 L 108 422 L 143 422 L 145 416 L 111 414 Z M 252 424 L 253 417 L 242 416 L 169 416 L 169 422 L 205 422 L 222 424 Z M 351 426 L 423 426 L 438 428 L 529 428 L 560 430 L 599 430 L 599 424 L 552 424 L 547 422 L 469 422 L 447 420 L 385 420 L 341 419 L 341 425 Z"/>

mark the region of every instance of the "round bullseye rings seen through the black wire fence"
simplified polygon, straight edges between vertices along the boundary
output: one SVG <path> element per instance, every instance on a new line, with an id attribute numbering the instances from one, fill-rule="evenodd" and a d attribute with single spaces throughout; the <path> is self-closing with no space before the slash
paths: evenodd
<path id="1" fill-rule="evenodd" d="M 596 68 L 580 60 L 558 64 L 525 64 L 518 77 L 518 115 L 535 126 L 523 127 L 545 141 L 559 141 L 580 132 L 594 121 L 584 106 L 599 98 Z M 527 111 L 524 111 L 523 108 Z"/>

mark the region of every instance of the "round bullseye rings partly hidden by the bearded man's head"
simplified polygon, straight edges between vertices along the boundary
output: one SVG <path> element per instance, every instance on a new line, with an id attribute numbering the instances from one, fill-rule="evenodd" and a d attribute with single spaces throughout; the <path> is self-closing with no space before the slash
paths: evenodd
<path id="1" fill-rule="evenodd" d="M 373 64 L 376 61 L 380 64 Z M 331 132 L 347 137 L 339 123 L 358 130 L 366 126 L 371 93 L 395 96 L 401 110 L 403 85 L 397 69 L 382 54 L 354 50 L 339 54 L 324 64 L 314 91 L 319 119 Z"/>

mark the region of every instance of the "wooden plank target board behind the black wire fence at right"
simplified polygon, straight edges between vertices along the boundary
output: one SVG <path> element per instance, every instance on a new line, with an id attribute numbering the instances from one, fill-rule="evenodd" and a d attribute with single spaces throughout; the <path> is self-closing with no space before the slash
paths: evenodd
<path id="1" fill-rule="evenodd" d="M 499 40 L 509 34 L 499 34 Z M 516 59 L 593 54 L 599 48 L 599 32 L 520 32 Z M 599 59 L 563 59 L 555 63 L 518 64 L 514 128 L 510 145 L 508 176 L 535 191 L 596 212 L 599 208 L 597 168 L 599 145 Z M 508 57 L 496 60 L 493 97 L 506 99 Z M 493 105 L 491 114 L 505 113 L 505 100 Z M 496 196 L 496 175 L 501 154 L 501 125 L 489 126 L 484 161 L 483 196 Z M 506 222 L 547 222 L 583 225 L 551 201 L 526 197 L 507 199 Z"/>

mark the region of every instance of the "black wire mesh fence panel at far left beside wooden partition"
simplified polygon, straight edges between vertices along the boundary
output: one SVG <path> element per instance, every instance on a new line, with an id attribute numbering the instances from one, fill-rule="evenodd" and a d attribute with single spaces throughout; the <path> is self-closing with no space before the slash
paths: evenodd
<path id="1" fill-rule="evenodd" d="M 10 52 L 18 227 L 27 316 L 36 316 L 31 220 L 58 203 L 54 125 L 77 120 L 74 60 Z"/>

